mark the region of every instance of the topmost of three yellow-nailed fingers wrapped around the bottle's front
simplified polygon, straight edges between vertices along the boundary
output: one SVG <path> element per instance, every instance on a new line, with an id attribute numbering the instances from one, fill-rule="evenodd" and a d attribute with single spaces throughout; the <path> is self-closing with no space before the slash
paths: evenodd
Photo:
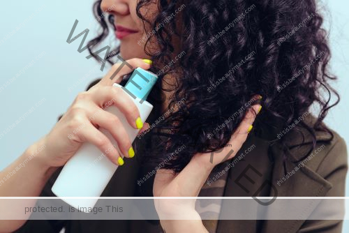
<path id="1" fill-rule="evenodd" d="M 92 90 L 94 103 L 106 109 L 114 105 L 126 117 L 128 123 L 133 128 L 140 129 L 143 127 L 140 119 L 140 111 L 128 94 L 120 87 L 101 87 Z"/>

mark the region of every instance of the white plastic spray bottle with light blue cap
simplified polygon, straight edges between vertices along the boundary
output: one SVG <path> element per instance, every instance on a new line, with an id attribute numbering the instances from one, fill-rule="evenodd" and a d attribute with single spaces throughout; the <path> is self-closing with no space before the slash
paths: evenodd
<path id="1" fill-rule="evenodd" d="M 151 88 L 154 87 L 156 80 L 157 76 L 154 73 L 143 70 L 142 68 L 136 68 L 125 87 L 114 84 L 115 88 L 122 88 L 128 93 L 140 111 L 142 122 L 147 120 L 153 109 L 153 105 L 145 101 L 145 99 Z M 124 114 L 117 107 L 107 107 L 106 111 L 119 117 L 128 133 L 128 137 L 133 142 L 139 130 L 130 126 Z M 117 147 L 117 142 L 112 135 L 104 129 L 101 129 L 101 132 L 109 138 L 110 142 L 112 142 L 121 154 Z M 68 199 L 65 197 L 101 197 L 103 190 L 117 170 L 117 167 L 96 146 L 90 143 L 84 143 L 79 151 L 64 165 L 63 170 L 52 186 L 52 192 L 75 208 L 93 208 L 98 201 L 97 198 Z"/>

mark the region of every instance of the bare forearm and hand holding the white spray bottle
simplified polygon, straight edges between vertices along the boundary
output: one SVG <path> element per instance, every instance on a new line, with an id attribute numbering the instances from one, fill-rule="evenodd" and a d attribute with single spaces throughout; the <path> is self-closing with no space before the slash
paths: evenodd
<path id="1" fill-rule="evenodd" d="M 144 63 L 142 59 L 130 59 L 128 63 L 133 67 L 140 67 L 144 70 L 150 68 L 149 64 Z M 122 76 L 132 70 L 128 66 L 124 66 L 114 79 L 110 80 L 110 76 L 117 68 L 119 68 L 119 64 L 112 66 L 112 69 L 95 87 L 80 93 L 50 133 L 29 146 L 22 156 L 0 172 L 0 177 L 6 176 L 9 172 L 16 170 L 15 168 L 20 163 L 24 163 L 24 160 L 36 153 L 39 148 L 45 148 L 37 153 L 34 159 L 27 163 L 25 167 L 18 170 L 15 175 L 1 185 L 1 197 L 38 197 L 52 173 L 58 167 L 63 166 L 84 142 L 94 144 L 103 153 L 107 150 L 108 153 L 105 153 L 105 156 L 112 163 L 118 165 L 120 154 L 112 146 L 112 142 L 98 130 L 101 126 L 111 133 L 120 149 L 122 148 L 123 155 L 129 157 L 128 149 L 131 147 L 131 140 L 126 136 L 124 126 L 121 125 L 116 116 L 104 110 L 105 103 L 110 103 L 112 100 L 112 104 L 124 113 L 128 123 L 133 128 L 137 128 L 135 121 L 140 117 L 137 107 L 131 98 L 127 96 L 120 98 L 121 95 L 124 95 L 124 91 L 112 87 L 114 82 L 121 82 Z M 90 117 L 96 116 L 96 112 L 98 112 L 98 117 L 91 121 Z M 68 134 L 71 134 L 74 129 L 82 125 L 84 127 L 73 137 L 68 137 Z M 35 204 L 36 200 L 27 200 L 25 206 L 31 207 Z M 25 220 L 0 220 L 0 232 L 13 232 L 24 223 Z"/>

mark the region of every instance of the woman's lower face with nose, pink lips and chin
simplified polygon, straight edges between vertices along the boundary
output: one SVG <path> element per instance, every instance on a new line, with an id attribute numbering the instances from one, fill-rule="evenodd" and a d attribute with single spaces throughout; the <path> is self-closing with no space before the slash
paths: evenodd
<path id="1" fill-rule="evenodd" d="M 114 15 L 115 36 L 120 40 L 120 53 L 124 59 L 148 59 L 144 52 L 147 35 L 142 20 L 136 13 L 138 0 L 103 0 L 101 9 Z M 141 12 L 144 17 L 150 17 L 156 10 L 156 1 L 147 6 L 147 11 Z"/>

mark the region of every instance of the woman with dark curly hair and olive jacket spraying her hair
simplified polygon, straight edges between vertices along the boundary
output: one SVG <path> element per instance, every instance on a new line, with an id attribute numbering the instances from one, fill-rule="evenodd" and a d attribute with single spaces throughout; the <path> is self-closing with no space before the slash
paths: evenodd
<path id="1" fill-rule="evenodd" d="M 330 104 L 329 97 L 338 94 L 328 84 L 335 77 L 327 70 L 327 35 L 315 0 L 102 0 L 94 7 L 96 17 L 103 12 L 110 17 L 102 17 L 103 32 L 89 43 L 91 54 L 98 59 L 96 45 L 112 27 L 120 40 L 113 54 L 121 54 L 134 68 L 150 69 L 159 75 L 149 96 L 154 111 L 148 121 L 151 125 L 156 122 L 156 127 L 150 130 L 148 124 L 143 126 L 133 103 L 111 87 L 132 71 L 124 66 L 110 80 L 120 66 L 117 63 L 101 81 L 77 96 L 50 133 L 1 172 L 7 174 L 45 145 L 25 170 L 1 186 L 1 196 L 53 195 L 50 187 L 59 167 L 83 142 L 91 142 L 101 151 L 111 147 L 98 128 L 110 131 L 124 156 L 133 157 L 128 152 L 134 147 L 138 158 L 124 161 L 115 149 L 107 154 L 122 166 L 105 196 L 344 195 L 346 145 L 322 123 L 338 103 L 336 99 Z M 103 111 L 95 121 L 89 119 L 112 99 L 130 125 L 145 132 L 133 147 L 113 115 Z M 184 104 L 177 104 L 179 100 Z M 309 112 L 313 104 L 318 105 L 316 116 Z M 165 119 L 156 121 L 173 109 Z M 68 133 L 82 123 L 86 126 L 68 138 Z M 179 146 L 185 149 L 178 151 Z M 173 153 L 174 158 L 166 160 Z M 216 176 L 237 155 L 234 167 Z M 304 160 L 304 166 L 286 176 Z M 155 178 L 142 179 L 163 161 L 166 163 Z M 251 167 L 258 176 L 241 179 Z M 269 186 L 264 186 L 265 181 Z M 156 203 L 156 207 L 161 204 Z M 216 214 L 227 211 L 224 204 L 217 206 Z M 172 214 L 175 206 L 168 207 L 165 213 L 157 209 L 159 216 Z M 184 208 L 182 213 L 198 216 L 193 205 Z M 313 211 L 316 205 L 309 208 Z M 137 224 L 29 220 L 25 224 L 1 222 L 0 232 L 59 232 L 62 227 L 66 232 L 341 232 L 341 220 L 306 218 L 238 221 L 201 220 L 198 216 L 190 221 Z"/>

